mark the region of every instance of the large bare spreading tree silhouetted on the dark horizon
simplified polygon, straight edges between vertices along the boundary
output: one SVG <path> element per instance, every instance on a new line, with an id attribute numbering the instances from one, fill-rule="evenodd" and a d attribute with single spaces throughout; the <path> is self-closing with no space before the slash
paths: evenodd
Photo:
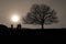
<path id="1" fill-rule="evenodd" d="M 43 30 L 44 24 L 56 23 L 57 16 L 55 10 L 52 10 L 48 6 L 33 4 L 23 21 L 28 24 L 40 24 Z"/>

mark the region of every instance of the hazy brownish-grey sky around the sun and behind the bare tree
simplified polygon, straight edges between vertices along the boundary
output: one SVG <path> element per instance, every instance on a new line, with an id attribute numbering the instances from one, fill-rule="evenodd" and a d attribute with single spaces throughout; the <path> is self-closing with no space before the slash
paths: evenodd
<path id="1" fill-rule="evenodd" d="M 25 16 L 34 3 L 47 4 L 57 12 L 59 22 L 52 25 L 44 25 L 44 28 L 66 28 L 66 0 L 0 0 L 0 23 L 7 26 L 14 24 L 10 21 L 11 15 L 16 13 L 20 18 Z M 32 24 L 22 24 L 22 26 L 41 28 L 40 25 Z"/>

